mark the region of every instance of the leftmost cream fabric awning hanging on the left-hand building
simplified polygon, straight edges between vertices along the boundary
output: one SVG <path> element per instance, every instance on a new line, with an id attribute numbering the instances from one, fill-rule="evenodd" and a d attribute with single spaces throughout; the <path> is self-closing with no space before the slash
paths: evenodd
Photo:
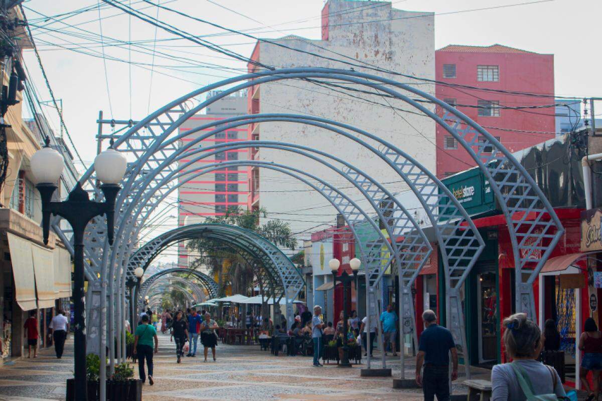
<path id="1" fill-rule="evenodd" d="M 11 233 L 7 233 L 7 237 L 11 265 L 13 265 L 14 298 L 22 310 L 36 309 L 36 281 L 31 242 Z"/>

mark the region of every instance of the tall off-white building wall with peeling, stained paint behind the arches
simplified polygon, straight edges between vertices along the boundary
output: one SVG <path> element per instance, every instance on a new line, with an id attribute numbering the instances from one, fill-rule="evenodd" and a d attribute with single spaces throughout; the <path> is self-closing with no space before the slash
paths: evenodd
<path id="1" fill-rule="evenodd" d="M 348 62 L 358 65 L 354 67 L 357 71 L 398 81 L 398 75 L 362 69 L 361 66 L 377 66 L 406 75 L 435 78 L 433 13 L 396 10 L 391 7 L 391 2 L 329 0 L 321 15 L 321 39 L 288 35 L 272 40 L 275 43 L 259 40 L 252 52 L 252 60 L 276 67 L 344 70 L 350 69 Z M 249 72 L 261 70 L 255 64 L 249 64 Z M 405 78 L 402 80 L 407 81 Z M 423 90 L 434 91 L 430 82 L 420 82 Z M 250 114 L 313 115 L 349 123 L 399 145 L 427 168 L 435 169 L 435 126 L 429 118 L 400 111 L 411 107 L 397 99 L 353 91 L 357 88 L 369 91 L 369 88 L 345 82 L 337 84 L 340 86 L 333 88 L 319 82 L 286 80 L 256 85 L 249 90 L 248 111 Z M 365 173 L 388 183 L 392 192 L 407 188 L 374 153 L 328 130 L 288 122 L 262 122 L 249 124 L 249 131 L 252 139 L 293 142 L 361 166 Z M 298 168 L 345 188 L 352 198 L 362 196 L 340 174 L 308 161 L 305 156 L 264 147 L 255 148 L 251 158 Z M 317 216 L 324 216 L 327 212 L 335 214 L 334 209 L 324 209 L 329 207 L 328 203 L 318 192 L 267 168 L 253 168 L 251 171 L 248 207 L 264 207 L 268 219 L 288 219 L 294 231 L 309 230 L 318 222 L 324 222 L 325 218 Z"/>

